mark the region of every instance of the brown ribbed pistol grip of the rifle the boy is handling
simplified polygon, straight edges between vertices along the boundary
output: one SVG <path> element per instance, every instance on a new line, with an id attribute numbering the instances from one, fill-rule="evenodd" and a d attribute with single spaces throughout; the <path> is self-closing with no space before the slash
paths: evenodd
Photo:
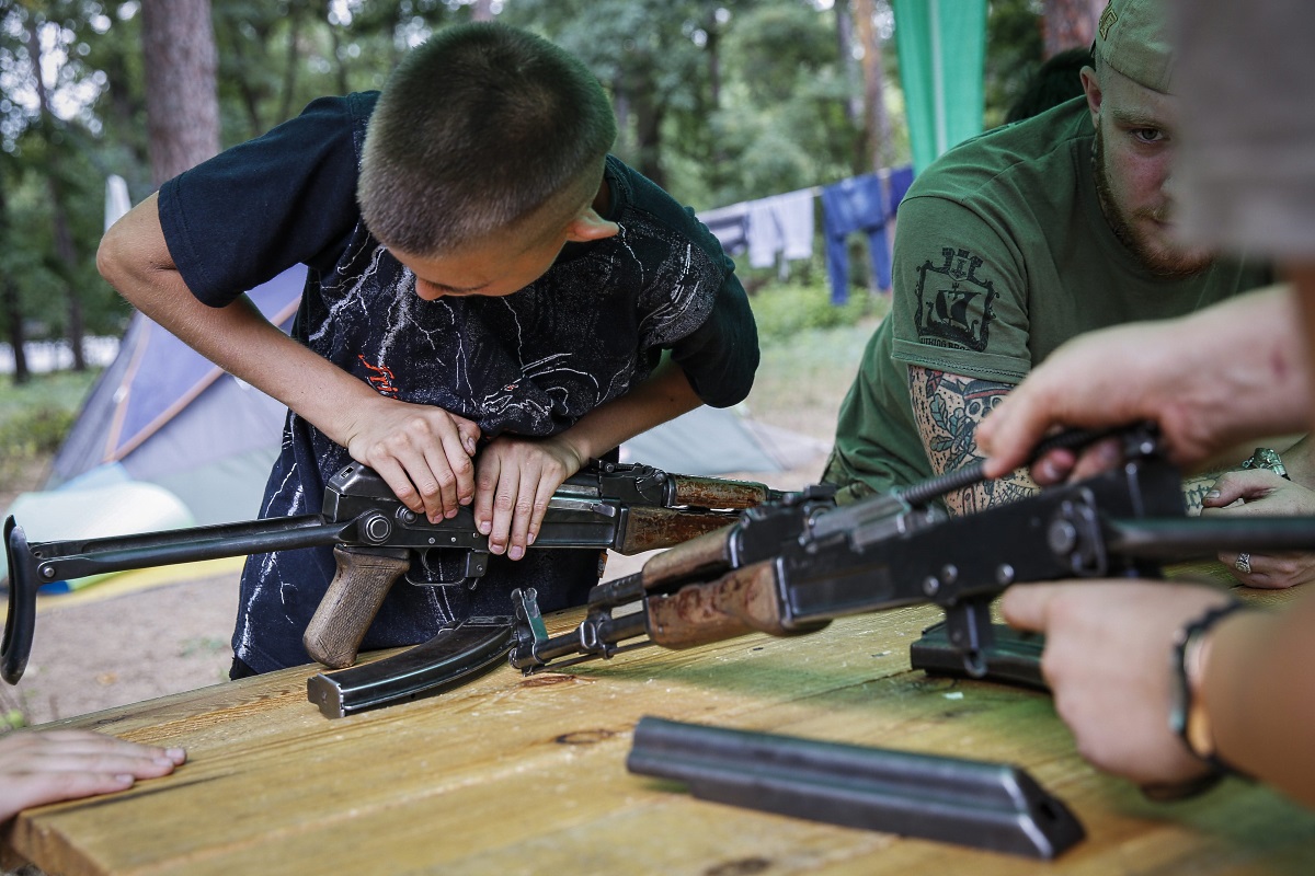
<path id="1" fill-rule="evenodd" d="M 379 613 L 393 582 L 410 569 L 404 548 L 337 545 L 338 571 L 316 608 L 301 642 L 325 666 L 343 668 L 356 662 L 356 649 Z"/>

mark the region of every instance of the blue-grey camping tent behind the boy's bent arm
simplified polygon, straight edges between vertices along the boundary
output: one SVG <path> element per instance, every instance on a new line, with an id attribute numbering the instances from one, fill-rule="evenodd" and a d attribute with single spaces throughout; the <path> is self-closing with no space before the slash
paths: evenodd
<path id="1" fill-rule="evenodd" d="M 292 326 L 305 268 L 252 289 L 260 313 Z M 225 373 L 141 314 L 55 454 L 47 489 L 154 483 L 197 524 L 255 517 L 287 408 Z"/>

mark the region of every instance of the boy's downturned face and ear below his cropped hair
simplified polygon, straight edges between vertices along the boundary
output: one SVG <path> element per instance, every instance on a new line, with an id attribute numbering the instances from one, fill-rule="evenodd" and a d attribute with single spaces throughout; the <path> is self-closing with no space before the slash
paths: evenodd
<path id="1" fill-rule="evenodd" d="M 583 206 L 576 201 L 567 213 L 568 219 L 562 218 L 559 205 L 550 204 L 544 209 L 555 218 L 531 215 L 517 230 L 451 255 L 423 257 L 392 248 L 389 252 L 416 274 L 416 294 L 425 301 L 448 296 L 510 296 L 547 273 L 567 243 L 601 240 L 617 234 L 617 223 L 604 219 L 596 209 L 606 200 L 604 185 Z"/>

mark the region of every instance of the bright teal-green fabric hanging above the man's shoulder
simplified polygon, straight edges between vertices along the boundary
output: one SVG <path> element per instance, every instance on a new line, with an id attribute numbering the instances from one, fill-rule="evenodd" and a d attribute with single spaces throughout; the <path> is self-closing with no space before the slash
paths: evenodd
<path id="1" fill-rule="evenodd" d="M 913 165 L 982 131 L 986 0 L 894 0 Z"/>

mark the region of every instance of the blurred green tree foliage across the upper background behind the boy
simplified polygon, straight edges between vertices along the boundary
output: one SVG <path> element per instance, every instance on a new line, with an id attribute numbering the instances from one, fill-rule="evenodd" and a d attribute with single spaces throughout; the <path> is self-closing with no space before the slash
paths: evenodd
<path id="1" fill-rule="evenodd" d="M 481 4 L 585 60 L 609 89 L 622 159 L 698 209 L 825 185 L 871 169 L 855 108 L 857 63 L 842 49 L 846 0 L 505 0 Z M 167 7 L 166 7 L 167 8 Z M 473 0 L 212 0 L 221 143 L 263 134 L 322 95 L 379 88 L 433 30 Z M 876 0 L 890 163 L 907 160 L 892 14 Z M 1040 63 L 1040 0 L 990 0 L 986 122 L 1003 117 Z M 126 305 L 99 277 L 105 176 L 134 202 L 153 189 L 141 4 L 0 3 L 0 276 L 32 339 L 68 332 L 70 296 L 88 332 L 117 334 Z M 59 118 L 33 102 L 39 32 Z M 55 51 L 49 51 L 54 46 Z M 72 109 L 68 109 L 72 106 Z M 74 260 L 57 255 L 53 186 Z M 0 334 L 8 331 L 0 313 Z"/>

